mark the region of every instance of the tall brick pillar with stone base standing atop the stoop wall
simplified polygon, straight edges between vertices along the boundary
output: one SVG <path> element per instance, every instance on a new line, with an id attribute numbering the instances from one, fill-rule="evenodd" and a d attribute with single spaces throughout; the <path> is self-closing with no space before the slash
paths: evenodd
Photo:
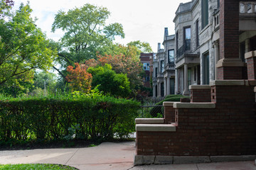
<path id="1" fill-rule="evenodd" d="M 239 1 L 220 0 L 220 60 L 218 79 L 242 79 L 239 59 Z"/>

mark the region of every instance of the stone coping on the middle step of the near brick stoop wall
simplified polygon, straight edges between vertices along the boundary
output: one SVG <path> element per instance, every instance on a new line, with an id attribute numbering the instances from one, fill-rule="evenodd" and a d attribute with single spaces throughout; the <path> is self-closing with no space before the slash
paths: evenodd
<path id="1" fill-rule="evenodd" d="M 215 108 L 215 103 L 174 103 L 174 108 Z"/>

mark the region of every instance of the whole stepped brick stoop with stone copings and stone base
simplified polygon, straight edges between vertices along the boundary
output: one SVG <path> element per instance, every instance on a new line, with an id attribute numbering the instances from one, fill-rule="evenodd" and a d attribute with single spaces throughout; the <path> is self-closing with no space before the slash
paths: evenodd
<path id="1" fill-rule="evenodd" d="M 214 162 L 216 157 L 232 157 L 232 161 L 242 160 L 247 155 L 254 157 L 255 86 L 255 80 L 211 81 L 211 102 L 164 102 L 165 124 L 137 125 L 134 164 Z M 255 159 L 252 157 L 250 160 Z"/>

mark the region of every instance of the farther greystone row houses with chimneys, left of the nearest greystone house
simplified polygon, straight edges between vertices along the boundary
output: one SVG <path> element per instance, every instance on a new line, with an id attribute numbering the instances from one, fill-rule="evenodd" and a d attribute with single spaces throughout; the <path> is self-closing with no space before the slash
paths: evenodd
<path id="1" fill-rule="evenodd" d="M 164 49 L 158 44 L 156 56 L 153 60 L 153 96 L 164 97 L 175 94 L 175 36 L 169 35 L 168 28 L 164 28 Z"/>

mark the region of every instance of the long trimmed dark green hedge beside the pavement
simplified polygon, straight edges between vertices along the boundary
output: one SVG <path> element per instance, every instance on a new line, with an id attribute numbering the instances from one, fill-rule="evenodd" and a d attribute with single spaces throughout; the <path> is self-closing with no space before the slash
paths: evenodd
<path id="1" fill-rule="evenodd" d="M 109 140 L 134 132 L 140 104 L 110 96 L 0 101 L 0 140 Z"/>

